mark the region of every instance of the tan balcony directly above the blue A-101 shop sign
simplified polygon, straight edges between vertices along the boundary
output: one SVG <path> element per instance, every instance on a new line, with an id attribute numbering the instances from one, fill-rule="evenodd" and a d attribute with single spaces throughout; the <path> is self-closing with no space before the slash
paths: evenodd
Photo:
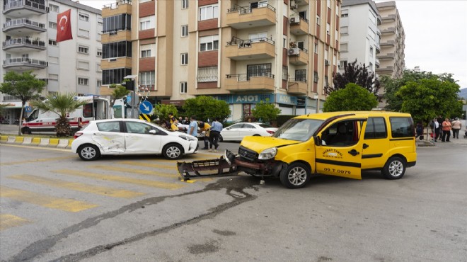
<path id="1" fill-rule="evenodd" d="M 274 91 L 274 74 L 264 73 L 258 76 L 248 74 L 228 74 L 224 81 L 226 90 L 239 91 Z"/>

